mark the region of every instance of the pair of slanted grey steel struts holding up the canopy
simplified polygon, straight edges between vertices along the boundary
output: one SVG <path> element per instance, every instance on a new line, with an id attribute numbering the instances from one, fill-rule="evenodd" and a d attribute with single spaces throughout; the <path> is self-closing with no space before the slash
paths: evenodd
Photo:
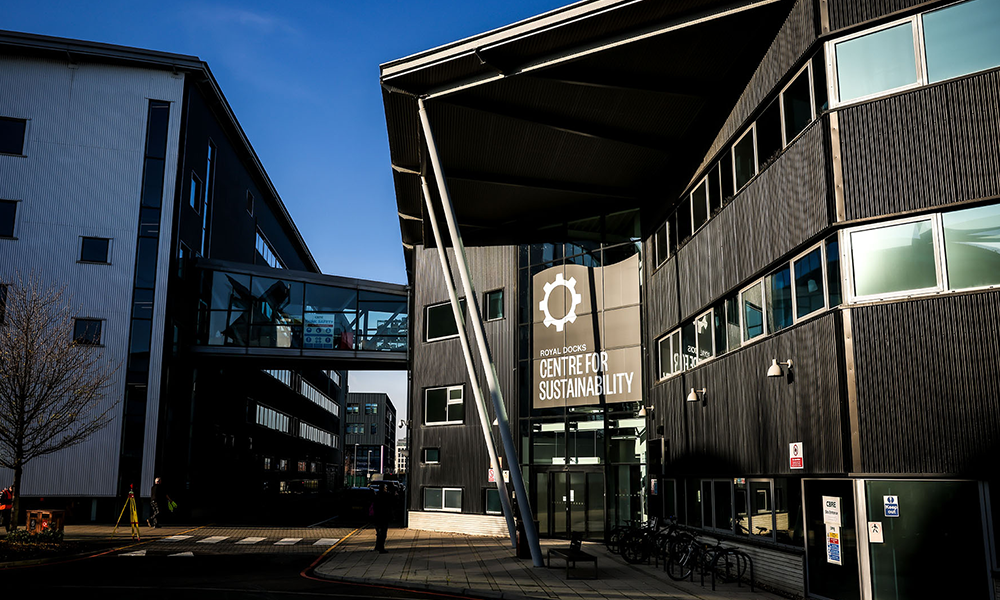
<path id="1" fill-rule="evenodd" d="M 469 316 L 472 321 L 472 331 L 476 336 L 476 345 L 479 348 L 479 357 L 483 364 L 483 371 L 486 374 L 486 384 L 490 388 L 490 397 L 493 400 L 493 410 L 497 416 L 497 423 L 500 426 L 500 437 L 503 440 L 504 455 L 507 457 L 507 464 L 510 467 L 511 480 L 514 484 L 514 493 L 517 495 L 517 505 L 521 512 L 521 519 L 524 524 L 524 531 L 528 538 L 528 547 L 531 550 L 531 561 L 536 567 L 545 566 L 542 560 L 542 549 L 538 545 L 538 531 L 535 530 L 535 519 L 531 512 L 531 504 L 528 502 L 528 494 L 524 489 L 524 480 L 521 477 L 521 465 L 517 457 L 517 447 L 514 445 L 514 438 L 510 433 L 510 423 L 507 419 L 507 407 L 503 402 L 503 394 L 500 391 L 500 384 L 497 381 L 496 365 L 490 356 L 489 346 L 486 344 L 486 335 L 483 333 L 483 322 L 479 313 L 479 302 L 475 289 L 472 287 L 472 279 L 469 277 L 468 261 L 465 257 L 465 244 L 462 243 L 462 235 L 458 231 L 457 219 L 455 218 L 455 208 L 451 203 L 448 194 L 448 185 L 444 178 L 444 170 L 441 167 L 441 159 L 438 157 L 437 145 L 434 143 L 434 133 L 431 131 L 430 119 L 427 116 L 427 109 L 424 106 L 423 98 L 417 100 L 420 111 L 420 124 L 423 128 L 424 139 L 427 142 L 427 151 L 430 155 L 431 165 L 434 168 L 434 179 L 437 183 L 438 196 L 444 208 L 445 221 L 448 223 L 448 234 L 451 236 L 452 246 L 455 249 L 455 263 L 458 267 L 459 278 L 462 280 L 462 288 L 465 291 L 466 304 L 469 307 Z M 429 196 L 428 196 L 429 201 Z M 434 216 L 433 206 L 428 203 L 428 216 L 433 224 L 437 218 Z M 443 252 L 440 242 L 439 252 Z M 447 275 L 447 273 L 445 274 Z M 457 310 L 457 299 L 452 302 L 452 308 Z M 456 314 L 458 314 L 456 312 Z M 461 320 L 456 316 L 456 321 Z M 479 378 L 474 371 L 470 371 L 470 378 L 473 386 L 478 385 Z M 489 443 L 489 440 L 487 440 Z M 498 472 L 498 481 L 503 482 L 503 472 Z M 504 483 L 506 488 L 506 483 Z"/>

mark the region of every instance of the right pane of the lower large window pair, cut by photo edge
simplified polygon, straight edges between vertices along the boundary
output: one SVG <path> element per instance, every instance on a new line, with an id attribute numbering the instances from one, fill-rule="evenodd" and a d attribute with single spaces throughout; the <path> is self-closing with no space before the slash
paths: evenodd
<path id="1" fill-rule="evenodd" d="M 942 221 L 948 287 L 1000 284 L 1000 204 L 945 213 Z"/>

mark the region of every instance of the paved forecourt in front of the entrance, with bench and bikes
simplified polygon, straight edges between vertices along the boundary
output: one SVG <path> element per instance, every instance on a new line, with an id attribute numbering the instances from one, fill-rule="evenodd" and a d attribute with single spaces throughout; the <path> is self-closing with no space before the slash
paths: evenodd
<path id="1" fill-rule="evenodd" d="M 412 529 L 390 529 L 387 554 L 372 551 L 375 532 L 362 529 L 346 536 L 315 568 L 314 575 L 333 580 L 381 584 L 408 589 L 462 594 L 481 598 L 663 599 L 663 600 L 779 600 L 781 597 L 746 585 L 719 584 L 712 591 L 696 577 L 694 583 L 676 582 L 651 565 L 630 565 L 602 544 L 584 543 L 598 557 L 599 579 L 566 579 L 562 562 L 534 568 L 530 559 L 517 559 L 509 538 L 476 537 Z M 542 540 L 549 548 L 566 547 L 565 540 Z M 589 576 L 590 564 L 581 563 L 574 577 Z"/>

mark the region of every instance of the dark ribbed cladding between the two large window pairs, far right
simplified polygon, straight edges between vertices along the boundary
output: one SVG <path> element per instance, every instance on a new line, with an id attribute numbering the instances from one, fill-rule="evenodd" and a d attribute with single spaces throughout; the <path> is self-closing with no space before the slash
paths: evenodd
<path id="1" fill-rule="evenodd" d="M 998 90 L 993 70 L 840 111 L 847 218 L 1000 194 Z"/>

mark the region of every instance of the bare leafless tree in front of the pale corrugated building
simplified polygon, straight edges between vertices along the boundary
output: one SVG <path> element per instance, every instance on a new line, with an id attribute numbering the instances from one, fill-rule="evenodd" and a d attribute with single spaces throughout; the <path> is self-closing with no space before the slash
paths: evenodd
<path id="1" fill-rule="evenodd" d="M 2 301 L 3 298 L 0 298 Z M 105 427 L 118 365 L 74 339 L 65 288 L 31 274 L 7 287 L 0 305 L 0 466 L 14 471 L 17 526 L 21 475 L 30 461 L 75 446 Z"/>

